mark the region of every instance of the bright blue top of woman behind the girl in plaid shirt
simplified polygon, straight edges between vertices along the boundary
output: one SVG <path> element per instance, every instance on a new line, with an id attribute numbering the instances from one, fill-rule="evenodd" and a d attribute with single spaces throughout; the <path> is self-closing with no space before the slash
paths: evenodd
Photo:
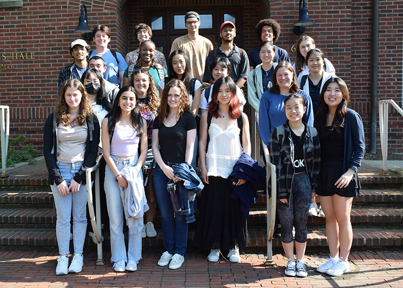
<path id="1" fill-rule="evenodd" d="M 309 97 L 308 93 L 301 89 L 297 92 L 297 94 L 300 94 L 304 97 L 306 103 L 306 123 L 308 126 L 313 126 L 311 97 Z M 286 112 L 284 111 L 284 100 L 286 98 L 287 96 L 282 94 L 274 94 L 270 92 L 270 90 L 267 90 L 261 96 L 259 105 L 259 134 L 260 138 L 266 145 L 268 145 L 270 135 L 272 135 L 274 128 L 283 125 L 288 120 Z"/>

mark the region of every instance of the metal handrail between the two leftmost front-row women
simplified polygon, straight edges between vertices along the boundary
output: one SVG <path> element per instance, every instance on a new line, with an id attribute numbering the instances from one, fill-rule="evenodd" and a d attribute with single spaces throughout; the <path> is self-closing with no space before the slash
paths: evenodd
<path id="1" fill-rule="evenodd" d="M 101 227 L 101 199 L 99 194 L 99 165 L 101 163 L 102 154 L 100 154 L 97 158 L 97 161 L 93 167 L 88 168 L 86 173 L 86 181 L 87 181 L 87 200 L 88 200 L 88 210 L 90 212 L 91 226 L 92 231 L 94 231 L 95 238 L 97 239 L 97 252 L 98 252 L 98 260 L 95 265 L 103 266 L 105 264 L 103 260 L 102 253 L 102 227 Z M 97 208 L 97 215 L 95 217 L 94 212 L 94 203 L 92 198 L 92 179 L 91 173 L 95 171 L 95 206 Z M 98 221 L 96 221 L 98 219 Z"/>

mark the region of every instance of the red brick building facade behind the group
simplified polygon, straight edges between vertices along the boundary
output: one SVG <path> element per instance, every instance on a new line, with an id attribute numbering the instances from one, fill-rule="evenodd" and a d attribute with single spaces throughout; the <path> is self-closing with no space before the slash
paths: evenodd
<path id="1" fill-rule="evenodd" d="M 276 44 L 289 52 L 292 61 L 295 58 L 293 45 L 298 36 L 293 33 L 293 23 L 298 20 L 298 0 L 23 0 L 22 3 L 20 8 L 0 8 L 0 105 L 11 107 L 11 136 L 27 135 L 39 152 L 44 121 L 56 103 L 58 73 L 73 61 L 69 44 L 81 37 L 74 33 L 81 4 L 87 7 L 89 26 L 107 25 L 112 31 L 110 48 L 123 55 L 138 47 L 133 34 L 136 24 L 145 22 L 151 26 L 160 19 L 162 27 L 153 30 L 153 40 L 167 57 L 172 40 L 186 33 L 184 26 L 175 30 L 174 16 L 194 10 L 201 11 L 200 15 L 211 15 L 211 26 L 201 29 L 200 34 L 208 35 L 214 44 L 221 43 L 217 30 L 225 17 L 234 17 L 237 44 L 246 51 L 259 44 L 254 33 L 256 23 L 272 17 L 282 26 Z M 309 16 L 316 25 L 306 29 L 333 63 L 337 75 L 350 87 L 350 107 L 362 116 L 367 150 L 371 117 L 371 5 L 369 0 L 308 1 Z M 393 99 L 399 106 L 402 15 L 403 2 L 380 2 L 378 100 Z M 95 47 L 93 43 L 91 46 Z M 390 112 L 389 152 L 402 151 L 403 132 L 399 124 L 403 117 L 394 108 Z M 379 128 L 377 131 L 379 152 Z"/>

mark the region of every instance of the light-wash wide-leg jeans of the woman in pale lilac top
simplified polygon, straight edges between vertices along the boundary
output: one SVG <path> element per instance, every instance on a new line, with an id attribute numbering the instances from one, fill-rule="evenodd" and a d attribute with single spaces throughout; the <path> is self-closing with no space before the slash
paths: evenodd
<path id="1" fill-rule="evenodd" d="M 111 156 L 117 170 L 121 171 L 126 167 L 135 167 L 139 156 L 122 159 Z M 116 182 L 109 166 L 105 168 L 105 194 L 108 205 L 109 226 L 110 226 L 110 247 L 111 262 L 120 260 L 133 260 L 136 263 L 142 258 L 142 235 L 141 233 L 129 234 L 129 242 L 126 257 L 126 245 L 124 243 L 123 224 L 125 221 L 122 199 L 120 198 L 119 183 Z M 142 221 L 142 220 L 141 220 Z"/>

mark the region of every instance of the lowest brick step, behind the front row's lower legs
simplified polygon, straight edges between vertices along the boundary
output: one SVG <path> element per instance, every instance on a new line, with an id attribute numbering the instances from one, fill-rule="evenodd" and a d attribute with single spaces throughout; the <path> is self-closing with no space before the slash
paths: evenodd
<path id="1" fill-rule="evenodd" d="M 104 252 L 110 250 L 109 233 L 104 236 Z M 250 243 L 249 247 L 266 247 L 266 231 L 249 229 Z M 189 230 L 188 247 L 193 247 L 194 230 Z M 125 233 L 127 240 L 127 233 Z M 308 230 L 308 247 L 327 246 L 327 239 L 324 229 Z M 401 229 L 353 229 L 353 246 L 357 247 L 402 247 L 403 233 Z M 72 244 L 71 244 L 72 245 Z M 87 237 L 85 245 L 95 247 L 90 237 Z M 281 247 L 281 239 L 274 238 L 273 247 Z M 16 249 L 20 246 L 32 246 L 36 249 L 40 247 L 56 247 L 56 232 L 50 229 L 1 229 L 0 230 L 0 248 L 2 246 L 14 246 Z M 156 238 L 143 239 L 143 247 L 164 247 L 164 237 L 162 230 L 157 230 Z M 10 247 L 9 247 L 10 248 Z"/>

